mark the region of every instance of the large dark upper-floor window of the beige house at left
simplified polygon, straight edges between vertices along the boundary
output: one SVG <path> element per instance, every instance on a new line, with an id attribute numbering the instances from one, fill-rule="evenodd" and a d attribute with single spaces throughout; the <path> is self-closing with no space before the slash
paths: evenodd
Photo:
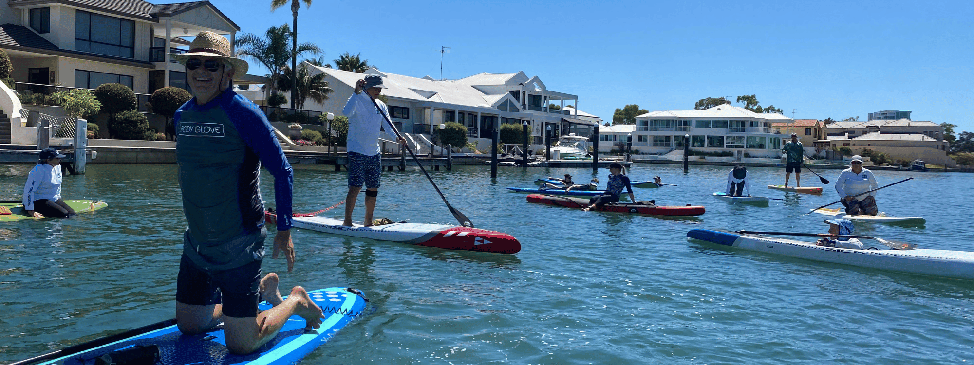
<path id="1" fill-rule="evenodd" d="M 135 56 L 135 22 L 84 11 L 75 12 L 74 48 L 100 55 Z"/>

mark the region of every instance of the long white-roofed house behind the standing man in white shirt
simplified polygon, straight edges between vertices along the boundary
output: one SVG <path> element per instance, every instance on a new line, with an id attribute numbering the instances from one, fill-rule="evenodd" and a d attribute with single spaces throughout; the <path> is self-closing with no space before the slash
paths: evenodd
<path id="1" fill-rule="evenodd" d="M 302 66 L 312 67 L 312 75 L 325 73 L 325 81 L 335 91 L 321 104 L 307 100 L 305 108 L 335 115 L 341 114 L 342 107 L 355 90 L 356 80 L 364 77 L 361 73 L 308 63 Z M 491 138 L 492 130 L 501 124 L 521 126 L 527 122 L 531 142 L 543 144 L 546 128 L 560 135 L 576 133 L 590 137 L 602 121 L 576 109 L 578 95 L 548 90 L 538 76 L 528 77 L 524 72 L 484 72 L 459 80 L 416 78 L 376 68 L 365 71 L 365 74 L 378 74 L 384 78 L 387 89 L 383 94 L 389 100 L 393 124 L 408 133 L 431 135 L 432 128 L 445 122 L 457 122 L 467 127 L 469 138 L 486 142 Z"/>

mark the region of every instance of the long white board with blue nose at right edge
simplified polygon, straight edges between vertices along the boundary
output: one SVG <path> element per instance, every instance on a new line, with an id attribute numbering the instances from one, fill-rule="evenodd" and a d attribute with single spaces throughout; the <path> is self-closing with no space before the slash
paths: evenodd
<path id="1" fill-rule="evenodd" d="M 741 249 L 863 268 L 974 279 L 974 252 L 917 248 L 871 250 L 818 246 L 786 238 L 695 229 L 687 237 Z"/>

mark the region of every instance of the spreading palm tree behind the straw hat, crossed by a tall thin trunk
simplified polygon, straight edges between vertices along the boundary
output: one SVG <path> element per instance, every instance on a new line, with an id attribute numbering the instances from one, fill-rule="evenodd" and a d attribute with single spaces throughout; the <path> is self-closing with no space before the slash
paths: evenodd
<path id="1" fill-rule="evenodd" d="M 291 28 L 286 23 L 281 26 L 272 25 L 263 37 L 245 33 L 237 38 L 236 44 L 239 47 L 237 55 L 246 55 L 267 67 L 271 71 L 270 86 L 274 86 L 281 77 L 281 70 L 287 67 L 288 58 L 293 54 L 287 48 L 288 40 L 291 40 Z M 298 55 L 309 52 L 316 55 L 321 53 L 321 49 L 312 43 L 302 43 L 295 50 Z M 266 89 L 274 92 L 272 87 Z"/>

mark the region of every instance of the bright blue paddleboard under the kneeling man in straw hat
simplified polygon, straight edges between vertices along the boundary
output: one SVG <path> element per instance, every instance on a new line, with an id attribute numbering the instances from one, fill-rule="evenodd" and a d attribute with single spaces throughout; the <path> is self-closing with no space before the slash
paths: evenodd
<path id="1" fill-rule="evenodd" d="M 96 357 L 136 345 L 158 346 L 160 362 L 164 365 L 294 364 L 334 337 L 339 329 L 361 315 L 365 309 L 365 299 L 345 288 L 327 288 L 308 294 L 324 312 L 325 318 L 321 327 L 305 331 L 304 318 L 291 316 L 277 337 L 250 354 L 231 354 L 226 347 L 222 326 L 216 326 L 199 335 L 183 336 L 175 325 L 171 325 L 104 346 L 60 356 L 41 365 L 94 365 Z M 259 309 L 270 310 L 271 305 L 262 302 Z"/>

